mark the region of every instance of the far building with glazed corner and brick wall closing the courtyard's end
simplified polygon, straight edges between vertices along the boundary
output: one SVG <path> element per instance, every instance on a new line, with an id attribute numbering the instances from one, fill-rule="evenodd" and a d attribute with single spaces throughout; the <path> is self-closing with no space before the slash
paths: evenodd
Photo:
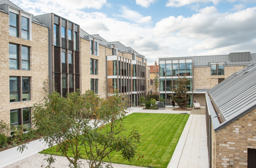
<path id="1" fill-rule="evenodd" d="M 242 70 L 249 64 L 256 64 L 256 54 L 250 52 L 230 53 L 229 55 L 207 55 L 193 57 L 159 58 L 160 97 L 170 104 L 172 84 L 185 73 L 190 80 L 190 104 L 196 99 L 206 105 L 205 93 L 218 83 Z"/>

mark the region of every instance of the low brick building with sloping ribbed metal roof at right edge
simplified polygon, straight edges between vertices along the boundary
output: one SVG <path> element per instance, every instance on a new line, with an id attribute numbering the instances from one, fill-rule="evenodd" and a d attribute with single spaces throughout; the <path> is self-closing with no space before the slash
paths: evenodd
<path id="1" fill-rule="evenodd" d="M 255 168 L 256 65 L 233 73 L 206 93 L 210 168 Z"/>

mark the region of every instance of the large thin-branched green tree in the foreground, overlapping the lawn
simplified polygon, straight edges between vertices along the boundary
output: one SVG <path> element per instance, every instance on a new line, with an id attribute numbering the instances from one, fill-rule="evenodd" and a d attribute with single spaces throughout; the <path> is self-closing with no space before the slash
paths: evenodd
<path id="1" fill-rule="evenodd" d="M 73 92 L 67 97 L 53 92 L 45 102 L 33 105 L 32 121 L 49 147 L 57 145 L 56 151 L 65 155 L 74 168 L 81 164 L 79 146 L 85 148 L 89 167 L 98 168 L 112 151 L 120 151 L 128 161 L 135 156 L 140 134 L 136 130 L 128 136 L 123 134 L 127 107 L 126 95 L 116 90 L 106 99 L 92 91 Z M 74 159 L 67 155 L 69 150 Z M 54 162 L 52 155 L 47 161 Z"/>

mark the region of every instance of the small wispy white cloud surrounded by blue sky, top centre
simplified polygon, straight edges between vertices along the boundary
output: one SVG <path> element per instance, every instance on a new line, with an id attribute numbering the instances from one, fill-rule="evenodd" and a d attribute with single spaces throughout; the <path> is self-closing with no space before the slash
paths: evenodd
<path id="1" fill-rule="evenodd" d="M 151 16 L 145 16 L 143 17 L 140 13 L 136 11 L 130 10 L 126 6 L 122 6 L 120 9 L 121 15 L 116 15 L 117 17 L 122 17 L 127 20 L 136 22 L 136 23 L 149 23 L 151 21 Z"/>

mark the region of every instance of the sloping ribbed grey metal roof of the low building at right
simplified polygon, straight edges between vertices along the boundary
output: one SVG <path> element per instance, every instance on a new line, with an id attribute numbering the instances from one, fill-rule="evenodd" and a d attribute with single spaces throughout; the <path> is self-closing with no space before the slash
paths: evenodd
<path id="1" fill-rule="evenodd" d="M 229 76 L 210 89 L 209 94 L 225 118 L 223 123 L 213 123 L 216 131 L 256 108 L 256 65 Z M 211 113 L 211 118 L 216 117 L 214 114 Z"/>

